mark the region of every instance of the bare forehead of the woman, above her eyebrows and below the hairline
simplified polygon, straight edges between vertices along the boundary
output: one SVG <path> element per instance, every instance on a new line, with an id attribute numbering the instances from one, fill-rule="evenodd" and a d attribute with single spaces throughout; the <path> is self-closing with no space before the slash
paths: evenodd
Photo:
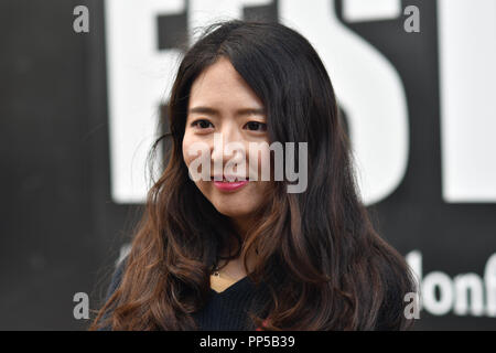
<path id="1" fill-rule="evenodd" d="M 225 57 L 200 74 L 194 81 L 190 94 L 190 108 L 195 105 L 208 105 L 216 108 L 263 107 L 251 87 Z"/>

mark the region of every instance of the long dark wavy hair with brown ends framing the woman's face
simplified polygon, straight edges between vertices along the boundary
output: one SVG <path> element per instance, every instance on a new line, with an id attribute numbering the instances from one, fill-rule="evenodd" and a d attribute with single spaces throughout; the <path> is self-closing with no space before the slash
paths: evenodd
<path id="1" fill-rule="evenodd" d="M 308 142 L 306 191 L 288 193 L 287 181 L 274 182 L 244 242 L 188 178 L 182 152 L 192 84 L 219 57 L 263 103 L 270 142 Z M 269 288 L 266 315 L 252 314 L 265 330 L 410 327 L 403 297 L 414 291 L 413 277 L 357 195 L 331 79 L 301 34 L 268 22 L 209 25 L 182 58 L 168 109 L 170 135 L 157 142 L 172 138 L 169 162 L 148 193 L 120 286 L 90 330 L 197 329 L 192 314 L 205 306 L 226 248 L 227 258 L 257 250 L 248 276 Z"/>

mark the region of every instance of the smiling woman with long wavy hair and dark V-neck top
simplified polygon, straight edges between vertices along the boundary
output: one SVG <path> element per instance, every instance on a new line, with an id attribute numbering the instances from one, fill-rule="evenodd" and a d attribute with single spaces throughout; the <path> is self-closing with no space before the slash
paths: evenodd
<path id="1" fill-rule="evenodd" d="M 357 196 L 331 81 L 302 35 L 278 23 L 212 25 L 183 57 L 168 113 L 168 167 L 90 329 L 409 328 L 412 277 Z M 276 142 L 306 143 L 295 153 L 300 176 L 308 170 L 300 192 L 274 178 L 280 156 L 263 159 Z M 270 180 L 257 178 L 267 165 Z"/>

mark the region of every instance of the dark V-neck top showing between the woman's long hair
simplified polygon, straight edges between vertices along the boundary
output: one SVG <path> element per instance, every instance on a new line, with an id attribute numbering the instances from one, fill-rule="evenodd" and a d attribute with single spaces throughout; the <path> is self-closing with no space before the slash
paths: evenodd
<path id="1" fill-rule="evenodd" d="M 106 301 L 119 287 L 126 260 L 122 260 L 114 272 L 107 290 Z M 204 331 L 244 331 L 256 330 L 247 312 L 260 310 L 268 300 L 265 286 L 257 287 L 248 277 L 244 277 L 222 292 L 211 288 L 207 304 L 193 314 L 198 330 Z M 108 329 L 104 329 L 108 330 Z"/>

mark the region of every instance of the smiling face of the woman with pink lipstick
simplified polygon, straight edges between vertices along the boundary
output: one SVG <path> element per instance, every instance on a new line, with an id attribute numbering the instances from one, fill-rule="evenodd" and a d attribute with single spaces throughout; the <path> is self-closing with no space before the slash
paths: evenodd
<path id="1" fill-rule="evenodd" d="M 198 146 L 197 142 L 207 147 L 209 175 L 195 181 L 195 184 L 219 213 L 231 217 L 240 231 L 251 222 L 250 215 L 263 204 L 265 192 L 270 188 L 270 182 L 260 178 L 263 154 L 249 156 L 250 142 L 262 149 L 266 147 L 268 151 L 266 122 L 262 103 L 227 58 L 219 58 L 193 83 L 183 139 L 184 162 L 190 168 L 198 158 L 198 149 L 193 148 Z M 234 153 L 226 151 L 227 145 L 235 147 Z M 254 168 L 257 168 L 259 178 L 252 178 Z M 228 180 L 214 181 L 214 176 Z M 247 181 L 233 182 L 234 178 Z"/>

